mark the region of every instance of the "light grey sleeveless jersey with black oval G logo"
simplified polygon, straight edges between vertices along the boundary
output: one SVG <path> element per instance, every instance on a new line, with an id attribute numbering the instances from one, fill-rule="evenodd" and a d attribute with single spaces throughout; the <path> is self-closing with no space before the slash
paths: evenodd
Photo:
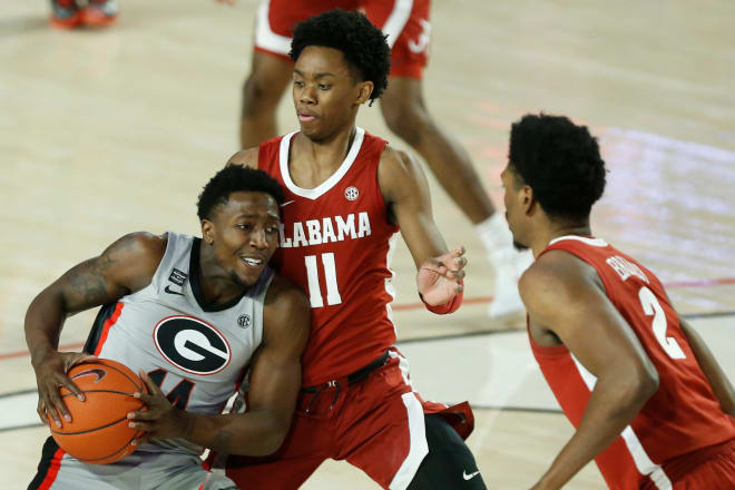
<path id="1" fill-rule="evenodd" d="M 85 345 L 99 357 L 144 370 L 171 403 L 193 413 L 223 411 L 263 339 L 263 303 L 273 278 L 258 282 L 227 304 L 204 303 L 199 244 L 168 233 L 166 253 L 145 288 L 102 306 Z M 140 451 L 202 448 L 183 440 L 156 441 Z"/>

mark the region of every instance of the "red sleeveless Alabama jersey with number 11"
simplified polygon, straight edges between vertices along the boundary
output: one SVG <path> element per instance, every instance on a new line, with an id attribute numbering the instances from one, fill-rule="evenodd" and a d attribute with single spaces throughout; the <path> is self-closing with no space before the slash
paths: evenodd
<path id="1" fill-rule="evenodd" d="M 389 224 L 378 184 L 385 140 L 357 128 L 340 168 L 313 189 L 288 171 L 294 133 L 261 144 L 258 168 L 285 190 L 274 268 L 312 304 L 312 330 L 302 359 L 310 386 L 353 373 L 395 343 L 389 268 L 398 226 Z"/>

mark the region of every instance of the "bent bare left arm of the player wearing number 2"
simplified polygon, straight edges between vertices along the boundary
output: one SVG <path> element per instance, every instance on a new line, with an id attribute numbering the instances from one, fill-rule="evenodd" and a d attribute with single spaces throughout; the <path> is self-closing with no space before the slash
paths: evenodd
<path id="1" fill-rule="evenodd" d="M 553 332 L 596 378 L 577 431 L 533 487 L 560 489 L 620 435 L 658 389 L 658 374 L 591 266 L 552 251 L 519 288 L 532 329 Z"/>

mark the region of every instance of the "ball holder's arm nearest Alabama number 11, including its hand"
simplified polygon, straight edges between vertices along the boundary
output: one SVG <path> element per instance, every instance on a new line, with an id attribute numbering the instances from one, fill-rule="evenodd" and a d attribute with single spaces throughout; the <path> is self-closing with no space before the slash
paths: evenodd
<path id="1" fill-rule="evenodd" d="M 301 389 L 301 355 L 308 339 L 311 307 L 302 292 L 275 277 L 266 296 L 263 344 L 255 354 L 248 411 L 199 415 L 174 408 L 145 374 L 150 395 L 136 393 L 148 410 L 131 412 L 130 427 L 147 433 L 136 440 L 184 438 L 227 454 L 266 455 L 288 432 Z"/>

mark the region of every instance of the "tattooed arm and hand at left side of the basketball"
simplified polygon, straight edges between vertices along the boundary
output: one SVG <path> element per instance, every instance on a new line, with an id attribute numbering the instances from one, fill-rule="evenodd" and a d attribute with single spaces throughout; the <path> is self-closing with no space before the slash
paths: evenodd
<path id="1" fill-rule="evenodd" d="M 58 427 L 61 427 L 59 415 L 71 420 L 58 389 L 66 386 L 84 400 L 66 373 L 72 365 L 94 359 L 84 353 L 57 351 L 66 317 L 145 287 L 165 249 L 165 238 L 144 233 L 126 235 L 98 257 L 69 270 L 33 298 L 26 313 L 26 343 L 36 371 L 38 414 L 43 423 L 47 413 Z"/>

